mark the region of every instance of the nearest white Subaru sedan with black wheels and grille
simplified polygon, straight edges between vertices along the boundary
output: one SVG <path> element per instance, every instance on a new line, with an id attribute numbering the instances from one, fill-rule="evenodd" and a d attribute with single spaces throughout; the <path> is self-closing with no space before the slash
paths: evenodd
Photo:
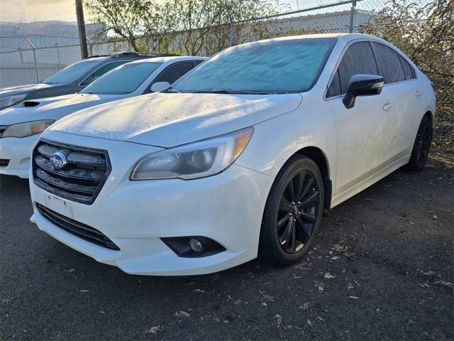
<path id="1" fill-rule="evenodd" d="M 323 214 L 431 146 L 431 82 L 360 34 L 223 50 L 167 90 L 86 109 L 33 151 L 31 221 L 129 274 L 299 261 Z"/>

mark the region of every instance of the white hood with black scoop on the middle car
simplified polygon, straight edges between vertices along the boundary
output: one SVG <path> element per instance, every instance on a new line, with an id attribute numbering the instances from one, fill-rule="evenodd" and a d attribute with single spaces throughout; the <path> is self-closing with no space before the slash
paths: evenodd
<path id="1" fill-rule="evenodd" d="M 0 111 L 0 126 L 38 119 L 61 119 L 77 110 L 121 98 L 116 94 L 67 94 L 31 99 Z"/>

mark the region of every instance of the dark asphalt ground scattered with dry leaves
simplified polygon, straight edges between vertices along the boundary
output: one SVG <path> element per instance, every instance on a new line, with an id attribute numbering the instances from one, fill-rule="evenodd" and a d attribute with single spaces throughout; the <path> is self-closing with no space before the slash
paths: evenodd
<path id="1" fill-rule="evenodd" d="M 29 222 L 0 177 L 0 340 L 453 340 L 452 163 L 396 171 L 333 209 L 295 266 L 144 277 Z"/>

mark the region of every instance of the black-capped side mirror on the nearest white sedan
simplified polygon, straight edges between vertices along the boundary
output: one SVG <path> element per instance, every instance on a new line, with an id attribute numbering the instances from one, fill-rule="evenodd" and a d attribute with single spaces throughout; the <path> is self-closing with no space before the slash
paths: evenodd
<path id="1" fill-rule="evenodd" d="M 383 86 L 383 77 L 376 75 L 353 75 L 348 83 L 347 92 L 343 97 L 343 105 L 347 109 L 353 108 L 357 96 L 380 94 Z"/>

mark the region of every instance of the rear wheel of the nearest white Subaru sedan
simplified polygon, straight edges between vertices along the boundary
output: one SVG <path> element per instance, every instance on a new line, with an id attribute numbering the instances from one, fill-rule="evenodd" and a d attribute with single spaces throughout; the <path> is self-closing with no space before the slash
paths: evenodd
<path id="1" fill-rule="evenodd" d="M 419 124 L 418 133 L 407 165 L 409 171 L 422 171 L 426 166 L 428 152 L 432 144 L 432 120 L 425 115 Z"/>

